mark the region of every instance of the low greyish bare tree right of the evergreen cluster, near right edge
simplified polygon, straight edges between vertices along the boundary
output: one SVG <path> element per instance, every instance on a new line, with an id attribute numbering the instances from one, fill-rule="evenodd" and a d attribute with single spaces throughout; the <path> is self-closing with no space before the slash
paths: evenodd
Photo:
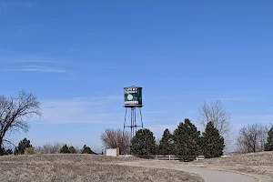
<path id="1" fill-rule="evenodd" d="M 237 147 L 239 153 L 252 153 L 264 150 L 268 129 L 261 124 L 244 126 L 239 130 Z"/>

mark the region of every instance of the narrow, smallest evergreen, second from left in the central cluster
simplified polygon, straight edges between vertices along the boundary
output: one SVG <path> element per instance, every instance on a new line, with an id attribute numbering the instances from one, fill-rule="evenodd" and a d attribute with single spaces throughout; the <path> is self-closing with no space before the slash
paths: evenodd
<path id="1" fill-rule="evenodd" d="M 159 154 L 165 156 L 174 154 L 173 136 L 168 129 L 164 131 L 163 136 L 159 141 Z"/>

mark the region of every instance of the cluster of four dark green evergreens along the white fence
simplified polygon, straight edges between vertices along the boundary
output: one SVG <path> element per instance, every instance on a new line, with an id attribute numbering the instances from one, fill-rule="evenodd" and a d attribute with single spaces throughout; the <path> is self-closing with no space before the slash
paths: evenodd
<path id="1" fill-rule="evenodd" d="M 212 122 L 207 123 L 201 135 L 189 119 L 179 123 L 173 134 L 166 129 L 159 144 L 148 129 L 138 130 L 132 139 L 132 153 L 136 156 L 176 155 L 184 161 L 192 161 L 199 155 L 220 157 L 224 147 L 224 138 Z"/>

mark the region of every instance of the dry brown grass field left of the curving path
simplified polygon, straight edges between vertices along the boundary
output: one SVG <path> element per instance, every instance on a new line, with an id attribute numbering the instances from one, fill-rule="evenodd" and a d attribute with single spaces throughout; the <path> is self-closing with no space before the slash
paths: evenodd
<path id="1" fill-rule="evenodd" d="M 33 155 L 0 157 L 0 179 L 6 181 L 187 181 L 201 177 L 186 172 L 146 167 L 125 167 L 115 163 L 139 160 L 134 157 L 93 155 Z"/>

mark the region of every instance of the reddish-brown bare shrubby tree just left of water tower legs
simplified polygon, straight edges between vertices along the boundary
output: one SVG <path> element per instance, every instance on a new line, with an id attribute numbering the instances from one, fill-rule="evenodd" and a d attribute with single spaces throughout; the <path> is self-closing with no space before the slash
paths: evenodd
<path id="1" fill-rule="evenodd" d="M 127 154 L 128 146 L 130 145 L 130 135 L 128 132 L 122 132 L 120 129 L 114 130 L 107 128 L 100 136 L 100 139 L 105 147 L 119 147 L 121 154 Z"/>

